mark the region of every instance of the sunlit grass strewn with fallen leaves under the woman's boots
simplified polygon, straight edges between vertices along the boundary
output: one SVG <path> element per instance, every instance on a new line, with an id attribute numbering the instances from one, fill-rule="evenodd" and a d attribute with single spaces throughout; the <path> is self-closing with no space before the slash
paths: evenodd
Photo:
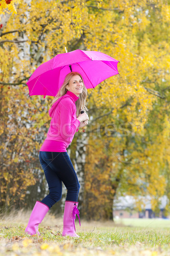
<path id="1" fill-rule="evenodd" d="M 62 237 L 62 219 L 47 214 L 41 236 L 24 233 L 30 213 L 0 219 L 0 256 L 165 256 L 170 255 L 170 221 L 122 219 L 107 222 L 76 221 L 80 238 Z"/>

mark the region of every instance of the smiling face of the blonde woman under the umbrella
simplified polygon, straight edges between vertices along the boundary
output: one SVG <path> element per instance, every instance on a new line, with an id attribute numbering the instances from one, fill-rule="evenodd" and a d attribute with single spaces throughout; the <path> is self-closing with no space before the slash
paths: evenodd
<path id="1" fill-rule="evenodd" d="M 83 88 L 81 77 L 79 75 L 72 76 L 66 88 L 78 97 Z"/>

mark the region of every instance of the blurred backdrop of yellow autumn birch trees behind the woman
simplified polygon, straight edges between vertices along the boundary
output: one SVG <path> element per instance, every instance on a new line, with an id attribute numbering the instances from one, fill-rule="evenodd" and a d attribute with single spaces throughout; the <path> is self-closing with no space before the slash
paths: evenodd
<path id="1" fill-rule="evenodd" d="M 0 17 L 0 214 L 48 194 L 39 150 L 53 97 L 28 97 L 26 82 L 66 47 L 120 61 L 120 75 L 88 89 L 89 124 L 68 148 L 81 217 L 168 218 L 170 1 L 2 0 Z"/>

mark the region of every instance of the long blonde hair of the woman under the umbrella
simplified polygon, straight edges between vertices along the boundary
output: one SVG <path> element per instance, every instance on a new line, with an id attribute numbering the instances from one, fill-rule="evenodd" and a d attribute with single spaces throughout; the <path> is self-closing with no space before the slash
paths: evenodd
<path id="1" fill-rule="evenodd" d="M 65 76 L 65 79 L 64 79 L 64 82 L 62 84 L 62 86 L 59 88 L 59 91 L 57 93 L 57 95 L 55 96 L 55 98 L 53 99 L 53 101 L 51 102 L 51 105 L 52 106 L 54 104 L 54 102 L 57 101 L 57 99 L 59 99 L 60 97 L 62 97 L 63 95 L 65 95 L 65 93 L 68 91 L 66 89 L 70 79 L 73 77 L 73 76 L 80 76 L 81 79 L 82 79 L 82 76 L 78 73 L 78 72 L 70 72 L 68 73 L 66 76 Z M 82 83 L 83 83 L 83 88 L 82 88 L 82 93 L 79 94 L 79 99 L 75 102 L 76 103 L 76 108 L 77 108 L 77 111 L 76 111 L 76 116 L 78 117 L 79 114 L 81 113 L 81 108 L 83 111 L 88 111 L 88 108 L 85 106 L 85 100 L 87 98 L 87 95 L 88 95 L 88 90 L 87 88 L 85 87 L 85 84 L 84 84 L 84 81 L 82 79 Z"/>

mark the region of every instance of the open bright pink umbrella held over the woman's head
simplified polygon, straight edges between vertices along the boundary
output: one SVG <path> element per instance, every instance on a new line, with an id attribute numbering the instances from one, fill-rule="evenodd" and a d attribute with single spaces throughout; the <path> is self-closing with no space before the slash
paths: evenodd
<path id="1" fill-rule="evenodd" d="M 75 50 L 56 55 L 41 64 L 26 83 L 29 95 L 56 96 L 65 76 L 79 72 L 85 87 L 94 88 L 108 77 L 119 74 L 114 58 L 102 52 Z"/>

